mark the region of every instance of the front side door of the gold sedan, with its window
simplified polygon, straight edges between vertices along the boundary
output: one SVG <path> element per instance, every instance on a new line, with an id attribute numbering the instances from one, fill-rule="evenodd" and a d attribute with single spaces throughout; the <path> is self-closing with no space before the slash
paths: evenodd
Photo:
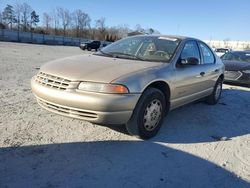
<path id="1" fill-rule="evenodd" d="M 182 65 L 181 60 L 188 58 L 196 58 L 199 63 L 196 65 Z M 205 85 L 206 70 L 207 68 L 202 66 L 202 57 L 197 41 L 187 41 L 175 66 L 171 108 L 176 108 L 205 96 L 207 89 Z"/>

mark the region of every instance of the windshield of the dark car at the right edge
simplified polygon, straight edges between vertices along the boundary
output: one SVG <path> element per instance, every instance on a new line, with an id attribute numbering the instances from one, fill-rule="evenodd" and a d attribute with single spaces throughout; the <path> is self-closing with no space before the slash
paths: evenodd
<path id="1" fill-rule="evenodd" d="M 228 52 L 221 57 L 222 60 L 244 61 L 250 63 L 250 52 Z"/>

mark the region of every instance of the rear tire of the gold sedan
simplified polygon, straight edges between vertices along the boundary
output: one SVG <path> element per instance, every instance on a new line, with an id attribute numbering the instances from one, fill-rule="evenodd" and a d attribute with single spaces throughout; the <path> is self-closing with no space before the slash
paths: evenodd
<path id="1" fill-rule="evenodd" d="M 215 105 L 218 103 L 220 96 L 221 96 L 221 92 L 222 92 L 222 84 L 223 84 L 223 80 L 219 78 L 214 86 L 213 93 L 210 96 L 208 96 L 206 100 L 207 104 Z"/>

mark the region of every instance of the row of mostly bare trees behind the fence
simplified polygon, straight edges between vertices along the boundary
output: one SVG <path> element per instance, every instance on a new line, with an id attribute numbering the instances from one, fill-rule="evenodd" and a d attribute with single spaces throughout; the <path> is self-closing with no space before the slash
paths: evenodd
<path id="1" fill-rule="evenodd" d="M 57 7 L 49 13 L 44 12 L 41 18 L 27 3 L 7 4 L 0 10 L 0 28 L 111 42 L 127 36 L 131 31 L 159 33 L 152 28 L 144 29 L 139 24 L 134 30 L 127 25 L 107 27 L 104 17 L 92 21 L 89 14 L 81 9 L 71 12 L 67 8 Z"/>

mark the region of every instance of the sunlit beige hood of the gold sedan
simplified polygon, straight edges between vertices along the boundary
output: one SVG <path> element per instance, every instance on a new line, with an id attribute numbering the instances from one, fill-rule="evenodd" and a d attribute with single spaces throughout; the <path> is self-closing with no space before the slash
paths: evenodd
<path id="1" fill-rule="evenodd" d="M 98 55 L 80 55 L 48 62 L 40 71 L 72 81 L 109 83 L 126 74 L 162 64 Z"/>

